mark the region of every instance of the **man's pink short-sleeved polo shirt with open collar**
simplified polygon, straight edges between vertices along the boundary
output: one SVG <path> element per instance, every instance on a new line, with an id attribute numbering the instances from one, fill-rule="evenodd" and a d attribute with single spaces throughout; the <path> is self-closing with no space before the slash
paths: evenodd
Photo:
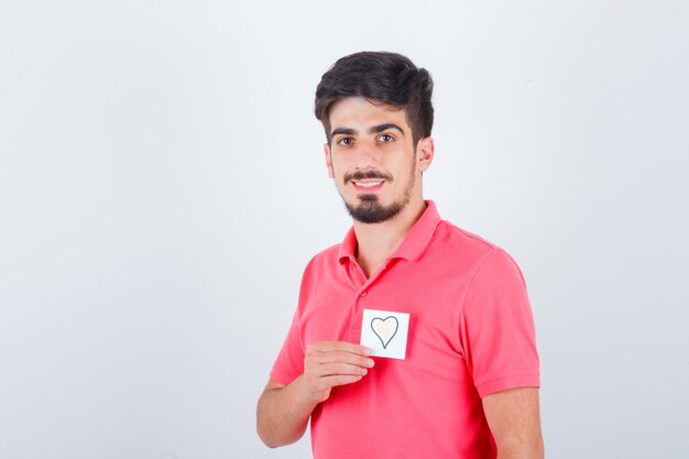
<path id="1" fill-rule="evenodd" d="M 311 414 L 316 459 L 495 457 L 481 397 L 538 386 L 534 321 L 522 273 L 502 249 L 441 220 L 433 201 L 367 278 L 357 239 L 317 254 L 271 371 L 289 384 L 306 346 L 359 343 L 363 309 L 409 314 L 406 359 L 374 358 Z"/>

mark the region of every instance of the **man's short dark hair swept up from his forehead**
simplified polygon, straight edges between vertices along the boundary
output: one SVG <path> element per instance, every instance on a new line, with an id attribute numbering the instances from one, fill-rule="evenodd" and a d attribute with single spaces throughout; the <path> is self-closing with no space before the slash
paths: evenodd
<path id="1" fill-rule="evenodd" d="M 344 56 L 322 75 L 316 88 L 316 118 L 330 142 L 330 109 L 346 97 L 401 108 L 412 128 L 414 144 L 433 129 L 433 79 L 408 57 L 396 53 L 361 52 Z"/>

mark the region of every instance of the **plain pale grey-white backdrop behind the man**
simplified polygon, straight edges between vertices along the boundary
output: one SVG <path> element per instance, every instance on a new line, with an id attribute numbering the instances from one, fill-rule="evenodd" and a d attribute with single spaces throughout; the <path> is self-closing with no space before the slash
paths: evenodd
<path id="1" fill-rule="evenodd" d="M 687 457 L 686 1 L 4 0 L 0 459 L 310 457 L 254 409 L 363 50 L 431 73 L 425 195 L 524 272 L 547 456 Z"/>

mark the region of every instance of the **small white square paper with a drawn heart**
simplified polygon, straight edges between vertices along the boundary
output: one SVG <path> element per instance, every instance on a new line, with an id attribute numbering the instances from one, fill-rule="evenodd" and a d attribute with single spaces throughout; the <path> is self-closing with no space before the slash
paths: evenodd
<path id="1" fill-rule="evenodd" d="M 371 356 L 391 359 L 406 358 L 409 315 L 392 310 L 363 310 L 361 346 L 371 349 Z"/>

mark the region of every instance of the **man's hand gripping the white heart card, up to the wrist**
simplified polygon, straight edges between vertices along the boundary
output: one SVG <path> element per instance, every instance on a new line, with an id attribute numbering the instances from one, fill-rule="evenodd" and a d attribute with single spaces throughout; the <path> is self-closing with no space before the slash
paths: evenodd
<path id="1" fill-rule="evenodd" d="M 344 341 L 317 341 L 306 347 L 304 381 L 307 397 L 316 403 L 330 396 L 337 385 L 360 381 L 373 367 L 371 351 Z"/>

